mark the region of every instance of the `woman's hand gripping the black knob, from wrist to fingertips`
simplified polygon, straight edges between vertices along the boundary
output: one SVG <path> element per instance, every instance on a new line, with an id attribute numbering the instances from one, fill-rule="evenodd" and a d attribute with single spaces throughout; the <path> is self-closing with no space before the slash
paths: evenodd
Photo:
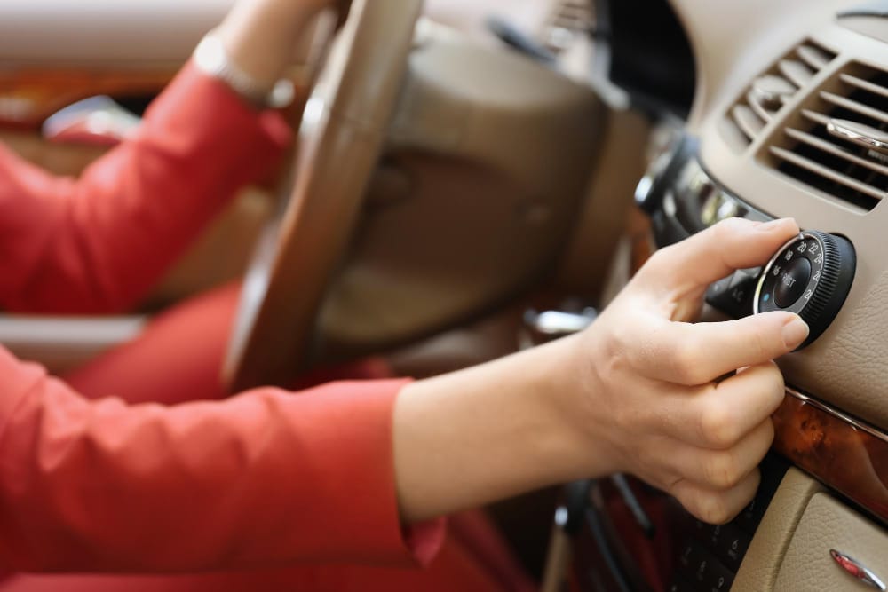
<path id="1" fill-rule="evenodd" d="M 707 522 L 725 522 L 749 502 L 784 394 L 771 360 L 808 328 L 789 312 L 687 321 L 712 281 L 763 264 L 796 233 L 793 220 L 734 218 L 662 249 L 580 336 L 586 408 L 574 416 L 609 451 L 605 470 L 644 479 Z"/>

